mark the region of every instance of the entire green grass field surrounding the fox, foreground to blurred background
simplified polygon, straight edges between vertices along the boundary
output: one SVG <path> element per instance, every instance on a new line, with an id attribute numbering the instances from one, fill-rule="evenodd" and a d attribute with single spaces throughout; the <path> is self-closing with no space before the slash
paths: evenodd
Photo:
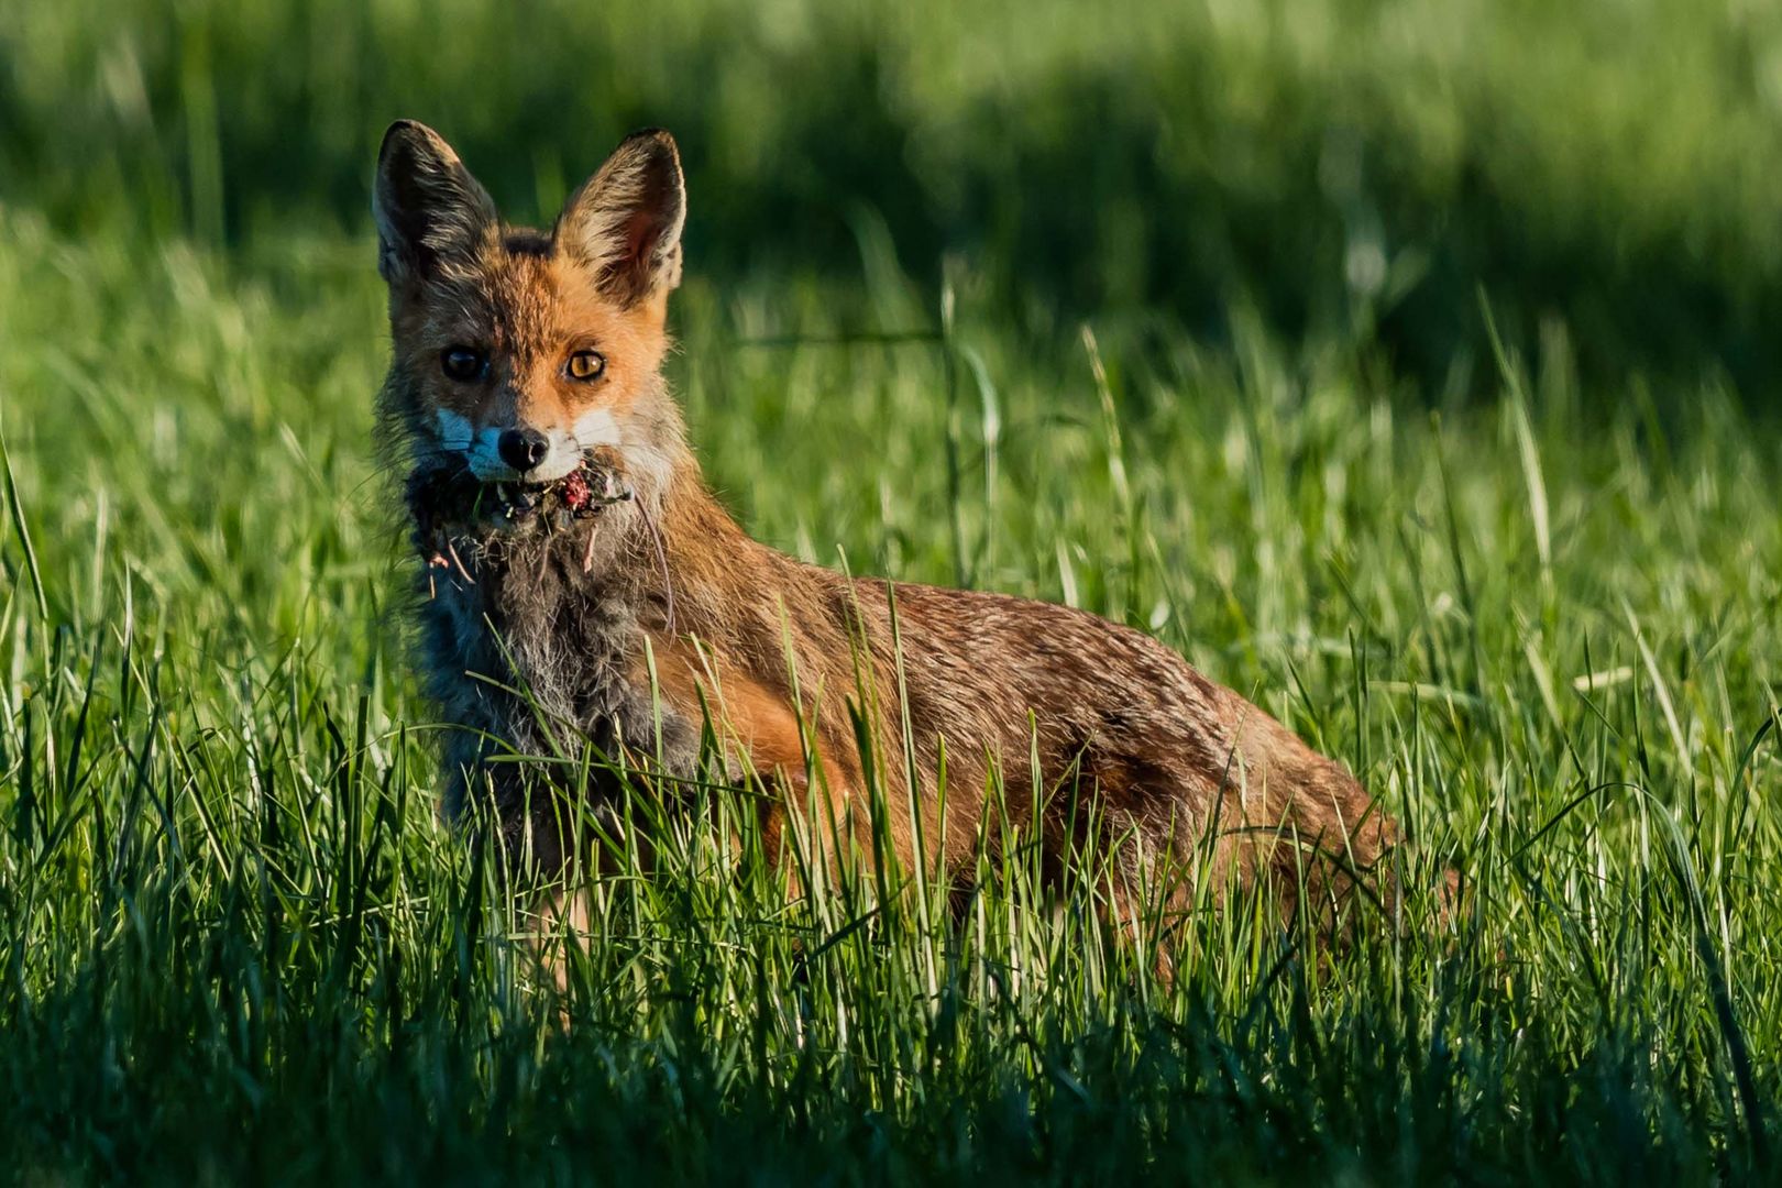
<path id="1" fill-rule="evenodd" d="M 0 28 L 7 1174 L 1773 1177 L 1773 12 L 577 12 Z M 522 212 L 674 126 L 756 536 L 1155 632 L 1467 910 L 1320 962 L 1240 896 L 1160 985 L 1021 871 L 788 907 L 690 835 L 538 987 L 405 664 L 399 114 Z"/>

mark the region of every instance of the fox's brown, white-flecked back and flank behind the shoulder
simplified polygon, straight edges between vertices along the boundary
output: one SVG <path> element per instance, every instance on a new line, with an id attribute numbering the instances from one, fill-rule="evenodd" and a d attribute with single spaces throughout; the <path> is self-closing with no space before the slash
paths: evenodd
<path id="1" fill-rule="evenodd" d="M 789 559 L 773 568 L 779 588 L 820 591 L 788 607 L 845 614 L 854 648 L 868 645 L 889 766 L 914 764 L 930 828 L 944 753 L 955 857 L 975 844 L 959 826 L 977 821 L 987 787 L 1016 819 L 1035 803 L 1069 814 L 1092 800 L 1173 850 L 1258 823 L 1340 851 L 1390 841 L 1381 821 L 1361 821 L 1367 794 L 1340 764 L 1140 631 L 1001 593 L 850 581 Z"/>

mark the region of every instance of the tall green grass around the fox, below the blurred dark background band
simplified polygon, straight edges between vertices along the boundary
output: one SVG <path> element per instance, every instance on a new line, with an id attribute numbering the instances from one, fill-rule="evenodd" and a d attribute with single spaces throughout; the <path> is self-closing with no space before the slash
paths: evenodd
<path id="1" fill-rule="evenodd" d="M 969 273 L 944 317 L 884 260 L 695 274 L 674 381 L 757 536 L 1153 631 L 1353 766 L 1467 910 L 1320 956 L 1237 896 L 1162 983 L 1019 862 L 959 910 L 788 903 L 704 789 L 649 873 L 608 855 L 558 996 L 435 818 L 369 249 L 0 217 L 14 1167 L 1704 1179 L 1773 1142 L 1782 458 L 1727 392 L 1586 392 L 1550 338 L 1436 417 L 1244 319 L 1214 351 L 1021 326 Z"/>

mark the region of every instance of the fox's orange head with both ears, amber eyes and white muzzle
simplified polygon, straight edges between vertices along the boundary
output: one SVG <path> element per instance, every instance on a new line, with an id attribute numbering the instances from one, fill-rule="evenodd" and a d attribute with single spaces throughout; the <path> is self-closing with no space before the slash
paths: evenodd
<path id="1" fill-rule="evenodd" d="M 627 137 L 535 232 L 501 221 L 438 134 L 399 121 L 372 212 L 394 340 L 383 411 L 419 460 L 551 483 L 606 447 L 661 499 L 684 451 L 659 376 L 686 214 L 666 132 Z"/>

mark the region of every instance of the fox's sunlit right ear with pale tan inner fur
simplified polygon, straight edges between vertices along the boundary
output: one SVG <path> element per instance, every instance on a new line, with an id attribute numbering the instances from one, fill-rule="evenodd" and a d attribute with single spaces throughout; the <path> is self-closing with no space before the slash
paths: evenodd
<path id="1" fill-rule="evenodd" d="M 674 137 L 633 132 L 558 216 L 556 242 L 620 305 L 681 283 L 686 182 Z"/>

